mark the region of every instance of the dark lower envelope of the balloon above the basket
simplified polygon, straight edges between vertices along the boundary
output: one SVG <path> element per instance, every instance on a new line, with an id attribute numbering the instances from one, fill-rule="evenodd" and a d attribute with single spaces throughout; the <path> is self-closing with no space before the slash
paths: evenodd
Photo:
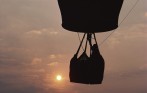
<path id="1" fill-rule="evenodd" d="M 106 32 L 118 27 L 124 0 L 58 0 L 62 27 L 73 32 Z"/>

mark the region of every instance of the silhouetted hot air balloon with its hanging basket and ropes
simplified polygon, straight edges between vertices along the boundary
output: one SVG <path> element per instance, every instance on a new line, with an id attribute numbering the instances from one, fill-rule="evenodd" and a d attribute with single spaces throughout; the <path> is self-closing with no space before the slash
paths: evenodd
<path id="1" fill-rule="evenodd" d="M 95 33 L 107 32 L 118 27 L 119 13 L 124 0 L 58 0 L 62 27 L 68 31 L 85 33 L 80 46 L 70 61 L 71 82 L 101 84 L 104 74 L 104 59 L 99 52 Z M 87 35 L 85 49 L 77 57 Z M 92 44 L 91 37 L 95 43 Z M 90 56 L 86 54 L 87 43 Z"/>

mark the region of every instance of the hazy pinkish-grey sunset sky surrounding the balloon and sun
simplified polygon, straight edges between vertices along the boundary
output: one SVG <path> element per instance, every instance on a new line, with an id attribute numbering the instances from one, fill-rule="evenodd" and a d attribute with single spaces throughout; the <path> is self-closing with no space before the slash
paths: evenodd
<path id="1" fill-rule="evenodd" d="M 125 0 L 119 23 L 135 2 Z M 79 40 L 61 27 L 57 0 L 0 0 L 0 93 L 147 93 L 146 4 L 140 0 L 100 46 L 104 81 L 89 86 L 69 82 Z M 98 43 L 110 33 L 96 34 Z"/>

